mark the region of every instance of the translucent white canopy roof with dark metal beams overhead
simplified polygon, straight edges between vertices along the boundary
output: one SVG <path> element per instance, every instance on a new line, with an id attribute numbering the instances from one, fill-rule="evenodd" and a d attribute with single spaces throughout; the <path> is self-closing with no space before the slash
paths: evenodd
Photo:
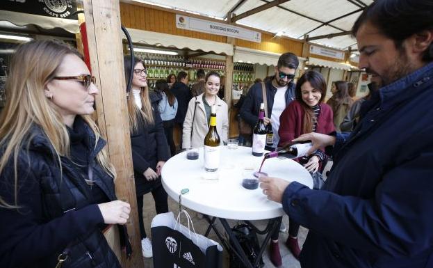
<path id="1" fill-rule="evenodd" d="M 276 1 L 220 0 L 212 1 L 212 4 L 197 0 L 122 1 L 148 3 L 221 20 L 227 19 L 227 14 L 231 13 L 235 25 L 250 26 L 295 39 L 308 35 L 313 43 L 343 50 L 348 47 L 357 49 L 357 41 L 350 36 L 350 29 L 362 10 L 373 3 L 373 0 L 287 0 L 273 5 Z M 261 11 L 249 15 L 247 12 L 251 13 L 254 8 Z M 325 38 L 327 35 L 334 36 Z"/>

